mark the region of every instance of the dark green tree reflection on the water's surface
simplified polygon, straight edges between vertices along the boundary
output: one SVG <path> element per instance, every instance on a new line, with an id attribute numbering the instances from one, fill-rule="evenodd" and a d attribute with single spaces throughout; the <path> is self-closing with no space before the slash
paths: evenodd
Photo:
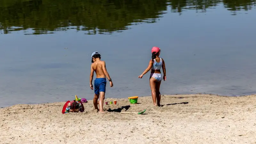
<path id="1" fill-rule="evenodd" d="M 74 28 L 111 34 L 134 22 L 156 22 L 168 5 L 172 12 L 206 12 L 221 2 L 236 14 L 252 9 L 256 0 L 0 0 L 0 30 L 7 34 L 31 28 L 33 34 L 45 34 Z"/>

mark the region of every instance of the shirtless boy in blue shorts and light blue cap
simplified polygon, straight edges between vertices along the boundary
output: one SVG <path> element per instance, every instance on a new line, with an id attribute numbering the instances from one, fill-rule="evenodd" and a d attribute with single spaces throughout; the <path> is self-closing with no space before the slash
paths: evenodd
<path id="1" fill-rule="evenodd" d="M 100 60 L 100 53 L 93 52 L 92 53 L 92 65 L 91 65 L 91 74 L 90 74 L 90 88 L 93 90 L 92 79 L 93 73 L 96 73 L 96 79 L 94 80 L 94 98 L 93 105 L 94 108 L 100 111 L 100 113 L 104 113 L 103 111 L 103 101 L 105 99 L 106 92 L 106 77 L 110 83 L 110 87 L 113 86 L 112 80 L 107 72 L 105 61 Z M 98 99 L 100 96 L 99 104 L 100 109 L 98 108 Z"/>

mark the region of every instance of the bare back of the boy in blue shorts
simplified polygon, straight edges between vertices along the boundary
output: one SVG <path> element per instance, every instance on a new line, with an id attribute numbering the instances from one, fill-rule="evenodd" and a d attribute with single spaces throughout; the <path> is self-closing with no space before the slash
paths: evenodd
<path id="1" fill-rule="evenodd" d="M 106 64 L 105 61 L 95 61 L 92 63 L 92 69 L 96 73 L 96 78 L 105 78 L 105 73 L 107 72 L 106 70 Z"/>

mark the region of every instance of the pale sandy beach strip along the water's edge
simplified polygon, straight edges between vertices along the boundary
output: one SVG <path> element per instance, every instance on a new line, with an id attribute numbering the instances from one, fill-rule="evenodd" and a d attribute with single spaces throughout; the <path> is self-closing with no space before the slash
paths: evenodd
<path id="1" fill-rule="evenodd" d="M 106 114 L 92 100 L 83 113 L 62 114 L 65 102 L 1 108 L 0 143 L 256 143 L 255 95 L 162 95 L 162 107 L 151 97 L 106 100 L 117 100 Z"/>

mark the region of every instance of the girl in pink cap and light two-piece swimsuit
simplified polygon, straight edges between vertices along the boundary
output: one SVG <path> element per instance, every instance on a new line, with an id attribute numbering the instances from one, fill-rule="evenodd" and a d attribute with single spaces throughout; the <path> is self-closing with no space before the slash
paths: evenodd
<path id="1" fill-rule="evenodd" d="M 152 47 L 151 53 L 152 53 L 152 60 L 149 61 L 148 68 L 139 76 L 139 78 L 142 78 L 143 75 L 145 75 L 150 69 L 151 74 L 149 77 L 149 84 L 151 88 L 151 94 L 154 106 L 161 106 L 160 100 L 161 100 L 161 94 L 160 94 L 160 84 L 162 81 L 162 75 L 161 75 L 161 67 L 163 69 L 163 80 L 166 80 L 166 70 L 165 70 L 165 64 L 164 60 L 159 57 L 161 52 L 161 49 L 159 47 Z M 157 100 L 157 103 L 156 103 Z"/>

